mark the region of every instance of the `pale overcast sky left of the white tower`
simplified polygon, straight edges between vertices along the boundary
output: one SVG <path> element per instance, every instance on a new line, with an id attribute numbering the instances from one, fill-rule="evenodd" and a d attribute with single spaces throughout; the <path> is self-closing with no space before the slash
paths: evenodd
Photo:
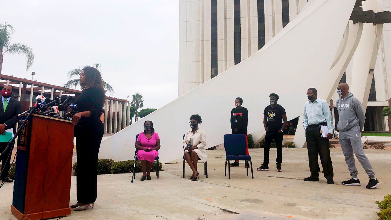
<path id="1" fill-rule="evenodd" d="M 2 74 L 64 85 L 67 73 L 100 63 L 103 79 L 126 99 L 139 92 L 144 108 L 160 108 L 178 97 L 178 0 L 2 1 L 0 22 L 11 24 L 11 43 L 32 47 L 4 56 Z M 77 88 L 79 89 L 79 88 Z"/>

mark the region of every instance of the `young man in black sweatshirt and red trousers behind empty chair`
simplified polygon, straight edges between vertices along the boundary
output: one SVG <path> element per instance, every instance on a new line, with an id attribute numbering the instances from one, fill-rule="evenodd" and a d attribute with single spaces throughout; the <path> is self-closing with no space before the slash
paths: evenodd
<path id="1" fill-rule="evenodd" d="M 236 108 L 231 110 L 231 129 L 232 134 L 244 134 L 247 139 L 247 124 L 248 124 L 248 110 L 242 107 L 243 99 L 237 97 L 235 99 Z M 248 144 L 247 144 L 247 155 L 248 155 Z M 231 163 L 230 166 L 239 166 L 239 160 Z M 248 161 L 245 162 L 246 168 L 249 167 Z"/>

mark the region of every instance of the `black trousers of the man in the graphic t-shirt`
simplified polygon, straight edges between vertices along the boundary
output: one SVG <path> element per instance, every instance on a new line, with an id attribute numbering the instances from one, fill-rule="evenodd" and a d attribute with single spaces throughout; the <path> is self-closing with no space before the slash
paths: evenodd
<path id="1" fill-rule="evenodd" d="M 264 145 L 264 165 L 269 165 L 269 152 L 270 145 L 273 140 L 276 142 L 277 148 L 277 165 L 281 166 L 282 164 L 282 139 L 284 135 L 283 133 L 278 132 L 266 132 L 265 136 L 265 145 Z"/>

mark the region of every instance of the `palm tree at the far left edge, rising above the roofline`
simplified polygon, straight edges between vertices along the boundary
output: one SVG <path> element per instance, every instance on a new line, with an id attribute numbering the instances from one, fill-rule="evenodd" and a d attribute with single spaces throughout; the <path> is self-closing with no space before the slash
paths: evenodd
<path id="1" fill-rule="evenodd" d="M 28 70 L 34 62 L 34 52 L 31 47 L 24 45 L 23 43 L 10 43 L 11 34 L 13 34 L 14 28 L 5 23 L 0 23 L 0 76 L 4 61 L 4 54 L 22 54 L 26 58 L 26 70 Z"/>

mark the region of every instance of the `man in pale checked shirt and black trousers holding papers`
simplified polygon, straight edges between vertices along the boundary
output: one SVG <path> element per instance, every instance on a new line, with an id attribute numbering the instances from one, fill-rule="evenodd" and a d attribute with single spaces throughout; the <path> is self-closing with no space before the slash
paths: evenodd
<path id="1" fill-rule="evenodd" d="M 323 166 L 323 173 L 328 184 L 334 184 L 333 164 L 330 157 L 330 139 L 333 137 L 333 117 L 328 103 L 317 97 L 316 88 L 307 91 L 308 102 L 304 105 L 303 125 L 307 140 L 308 162 L 311 175 L 304 181 L 319 181 L 318 154 Z M 319 126 L 327 125 L 327 137 L 321 137 Z"/>

